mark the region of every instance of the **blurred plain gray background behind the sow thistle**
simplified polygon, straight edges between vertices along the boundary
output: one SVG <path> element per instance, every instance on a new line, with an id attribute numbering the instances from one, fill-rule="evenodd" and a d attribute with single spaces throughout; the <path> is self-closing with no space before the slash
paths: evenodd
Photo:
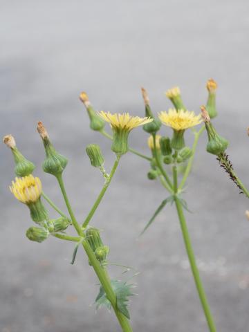
<path id="1" fill-rule="evenodd" d="M 143 116 L 140 86 L 149 91 L 154 111 L 161 111 L 171 106 L 164 92 L 178 85 L 187 107 L 199 112 L 205 82 L 213 77 L 219 84 L 215 125 L 230 140 L 228 154 L 249 185 L 248 1 L 1 0 L 0 6 L 1 135 L 15 136 L 60 208 L 66 211 L 55 178 L 41 169 L 37 120 L 70 160 L 64 176 L 79 220 L 102 187 L 86 145 L 101 145 L 107 169 L 114 159 L 110 142 L 89 129 L 78 99 L 82 90 L 95 109 Z M 137 129 L 129 142 L 149 154 L 146 140 Z M 249 203 L 205 144 L 204 133 L 185 194 L 194 212 L 187 213 L 187 223 L 217 331 L 246 332 Z M 14 177 L 10 151 L 2 145 L 0 153 L 0 331 L 120 331 L 113 313 L 95 313 L 98 282 L 83 250 L 72 266 L 73 243 L 26 239 L 32 221 L 8 190 Z M 147 180 L 148 169 L 145 160 L 124 156 L 92 224 L 104 230 L 109 260 L 135 268 L 123 278 L 140 272 L 131 279 L 138 286 L 130 306 L 134 332 L 208 331 L 174 208 L 165 208 L 138 239 L 166 196 L 159 183 Z M 111 266 L 110 273 L 120 277 L 122 269 Z"/>

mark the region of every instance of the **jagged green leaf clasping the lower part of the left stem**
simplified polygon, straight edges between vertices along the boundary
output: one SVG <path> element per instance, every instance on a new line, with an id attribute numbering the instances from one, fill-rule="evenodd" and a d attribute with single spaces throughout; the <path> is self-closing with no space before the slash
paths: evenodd
<path id="1" fill-rule="evenodd" d="M 118 310 L 129 319 L 130 315 L 127 308 L 127 302 L 129 302 L 129 296 L 134 295 L 131 292 L 133 285 L 127 284 L 127 282 L 122 282 L 120 280 L 111 280 L 111 286 L 116 294 L 116 305 Z M 111 302 L 107 299 L 107 295 L 102 286 L 100 286 L 100 293 L 98 293 L 98 296 L 95 299 L 95 304 L 97 309 L 100 308 L 100 306 L 106 306 L 109 310 L 111 310 Z"/>

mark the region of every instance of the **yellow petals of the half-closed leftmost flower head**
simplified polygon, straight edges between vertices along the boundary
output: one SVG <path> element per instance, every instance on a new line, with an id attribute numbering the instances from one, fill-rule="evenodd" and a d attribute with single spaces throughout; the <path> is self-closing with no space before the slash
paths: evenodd
<path id="1" fill-rule="evenodd" d="M 42 194 L 42 183 L 39 178 L 34 178 L 31 174 L 15 178 L 15 182 L 12 181 L 10 186 L 10 192 L 22 203 L 35 203 Z"/>

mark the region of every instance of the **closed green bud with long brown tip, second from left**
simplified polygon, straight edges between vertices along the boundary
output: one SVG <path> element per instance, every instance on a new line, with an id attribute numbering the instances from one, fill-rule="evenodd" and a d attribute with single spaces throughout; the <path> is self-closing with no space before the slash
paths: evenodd
<path id="1" fill-rule="evenodd" d="M 52 174 L 54 176 L 62 174 L 66 167 L 66 164 L 68 163 L 67 158 L 62 156 L 62 154 L 58 154 L 58 152 L 55 150 L 49 140 L 48 132 L 46 131 L 46 128 L 41 121 L 38 122 L 37 131 L 42 138 L 46 152 L 46 158 L 44 160 L 44 163 L 42 164 L 44 172 Z"/>

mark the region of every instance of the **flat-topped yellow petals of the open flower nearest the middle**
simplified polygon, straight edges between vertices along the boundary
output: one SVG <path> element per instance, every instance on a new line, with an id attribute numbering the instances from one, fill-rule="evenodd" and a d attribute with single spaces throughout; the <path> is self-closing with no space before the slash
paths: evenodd
<path id="1" fill-rule="evenodd" d="M 131 129 L 141 126 L 142 124 L 153 121 L 151 118 L 140 118 L 139 116 L 130 116 L 129 113 L 115 113 L 100 111 L 98 113 L 100 118 L 109 122 L 114 129 L 124 129 L 131 131 Z"/>

